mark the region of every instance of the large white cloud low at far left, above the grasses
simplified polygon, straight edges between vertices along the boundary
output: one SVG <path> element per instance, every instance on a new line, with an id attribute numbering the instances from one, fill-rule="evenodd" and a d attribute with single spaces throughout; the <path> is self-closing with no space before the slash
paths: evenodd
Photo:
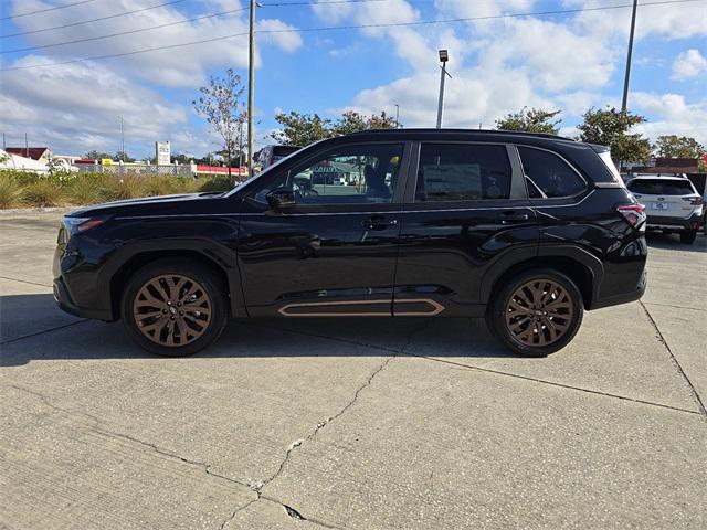
<path id="1" fill-rule="evenodd" d="M 17 64 L 41 62 L 48 60 L 28 56 Z M 15 71 L 3 77 L 2 92 L 0 115 L 8 136 L 28 132 L 33 142 L 55 151 L 116 146 L 118 116 L 125 119 L 129 141 L 148 144 L 187 120 L 182 107 L 92 63 Z"/>

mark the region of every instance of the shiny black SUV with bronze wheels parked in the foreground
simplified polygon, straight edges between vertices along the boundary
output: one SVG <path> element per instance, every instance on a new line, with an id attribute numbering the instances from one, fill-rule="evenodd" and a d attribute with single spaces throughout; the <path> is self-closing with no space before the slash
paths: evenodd
<path id="1" fill-rule="evenodd" d="M 326 174 L 326 179 L 320 179 Z M 545 356 L 645 289 L 643 205 L 608 149 L 549 135 L 381 130 L 312 145 L 226 193 L 66 215 L 63 309 L 194 353 L 229 317 L 486 317 Z"/>

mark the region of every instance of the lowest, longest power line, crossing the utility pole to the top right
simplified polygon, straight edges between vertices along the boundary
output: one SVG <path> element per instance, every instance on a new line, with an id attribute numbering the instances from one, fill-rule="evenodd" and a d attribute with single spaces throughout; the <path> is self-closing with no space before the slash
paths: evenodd
<path id="1" fill-rule="evenodd" d="M 349 0 L 350 1 L 350 0 Z M 676 3 L 690 3 L 690 2 L 704 2 L 706 0 L 663 0 L 655 2 L 644 2 L 639 6 L 650 7 L 650 6 L 666 6 L 666 4 L 676 4 Z M 432 24 L 447 24 L 447 23 L 457 23 L 457 22 L 472 22 L 479 20 L 493 20 L 493 19 L 513 19 L 513 18 L 523 18 L 523 17 L 547 17 L 555 14 L 572 14 L 588 11 L 608 11 L 608 10 L 616 10 L 616 9 L 625 9 L 633 7 L 633 3 L 623 3 L 618 6 L 604 6 L 597 8 L 576 8 L 576 9 L 564 9 L 564 10 L 553 10 L 553 11 L 536 11 L 536 12 L 526 12 L 526 13 L 505 13 L 505 14 L 494 14 L 486 17 L 468 17 L 468 18 L 458 18 L 458 19 L 437 19 L 437 20 L 421 20 L 414 22 L 391 22 L 391 23 L 380 23 L 380 24 L 357 24 L 357 25 L 334 25 L 334 26 L 321 26 L 321 28 L 300 28 L 300 29 L 283 29 L 283 30 L 260 30 L 258 34 L 271 34 L 271 33 L 307 33 L 313 31 L 340 31 L 340 30 L 355 30 L 355 29 L 366 29 L 366 28 L 400 28 L 400 26 L 414 26 L 414 25 L 432 25 Z M 108 55 L 97 55 L 92 57 L 84 59 L 73 59 L 68 61 L 61 61 L 55 63 L 46 63 L 46 64 L 30 64 L 25 66 L 11 66 L 9 68 L 0 68 L 0 72 L 9 72 L 15 70 L 29 70 L 29 68 L 42 68 L 48 66 L 61 66 L 64 64 L 73 64 L 73 63 L 82 63 L 85 61 L 102 61 L 106 59 L 118 59 L 125 57 L 129 55 L 137 55 L 141 53 L 157 52 L 160 50 L 173 50 L 176 47 L 183 46 L 193 46 L 198 44 L 207 44 L 210 42 L 223 41 L 226 39 L 234 39 L 238 36 L 247 35 L 247 33 L 234 33 L 230 35 L 221 35 L 214 36 L 211 39 L 204 39 L 200 41 L 191 41 L 183 42 L 178 44 L 169 44 L 165 46 L 155 46 L 147 47 L 141 50 L 134 50 L 131 52 L 123 52 L 123 53 L 114 53 Z"/>

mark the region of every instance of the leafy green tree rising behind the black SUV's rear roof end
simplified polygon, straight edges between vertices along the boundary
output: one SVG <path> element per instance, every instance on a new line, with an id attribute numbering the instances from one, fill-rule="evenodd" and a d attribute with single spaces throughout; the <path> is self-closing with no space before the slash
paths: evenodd
<path id="1" fill-rule="evenodd" d="M 577 126 L 580 140 L 608 146 L 611 158 L 619 167 L 622 162 L 646 163 L 651 158 L 648 139 L 640 132 L 631 134 L 632 127 L 646 120 L 643 116 L 616 110 L 614 107 L 592 107 L 584 113 L 583 118 L 584 121 Z"/>

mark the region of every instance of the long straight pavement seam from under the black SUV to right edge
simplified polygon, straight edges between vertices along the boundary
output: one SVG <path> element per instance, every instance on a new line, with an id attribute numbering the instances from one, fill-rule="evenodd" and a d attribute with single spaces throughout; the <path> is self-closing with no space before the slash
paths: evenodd
<path id="1" fill-rule="evenodd" d="M 352 339 L 341 339 L 341 338 L 338 338 L 338 337 L 328 337 L 326 335 L 312 333 L 312 332 L 307 332 L 307 331 L 298 331 L 298 330 L 295 331 L 295 330 L 292 330 L 292 329 L 278 328 L 278 327 L 275 327 L 275 326 L 263 326 L 263 325 L 260 325 L 260 327 L 267 328 L 267 329 L 273 329 L 273 330 L 277 330 L 277 331 L 283 331 L 283 332 L 288 332 L 288 333 L 293 333 L 293 335 L 302 335 L 302 336 L 306 336 L 306 337 L 316 337 L 316 338 L 319 338 L 319 339 L 333 340 L 335 342 L 345 342 L 345 343 L 348 343 L 348 344 L 361 346 L 363 348 L 370 348 L 370 349 L 373 349 L 373 350 L 381 350 L 381 351 L 386 351 L 386 352 L 397 352 L 397 351 L 399 351 L 399 350 L 394 350 L 392 348 L 388 348 L 386 346 L 371 344 L 371 343 L 368 343 L 368 342 L 361 342 L 361 341 L 352 340 Z M 407 346 L 409 346 L 409 344 L 407 344 Z M 444 363 L 444 364 L 451 364 L 451 365 L 458 367 L 458 368 L 464 369 L 464 370 L 473 370 L 473 371 L 478 371 L 478 372 L 492 373 L 492 374 L 495 374 L 495 375 L 504 375 L 504 377 L 507 377 L 507 378 L 516 378 L 516 379 L 521 379 L 521 380 L 525 380 L 525 381 L 531 381 L 531 382 L 539 383 L 539 384 L 549 384 L 551 386 L 558 386 L 558 388 L 561 388 L 561 389 L 573 390 L 573 391 L 577 391 L 577 392 L 584 392 L 584 393 L 588 393 L 588 394 L 595 394 L 595 395 L 601 395 L 601 396 L 604 396 L 604 398 L 611 398 L 611 399 L 629 401 L 629 402 L 633 402 L 633 403 L 640 403 L 640 404 L 643 404 L 643 405 L 657 406 L 657 407 L 661 407 L 661 409 L 667 409 L 667 410 L 675 411 L 675 412 L 683 412 L 683 413 L 687 413 L 687 414 L 703 414 L 703 412 L 700 412 L 700 411 L 690 411 L 688 409 L 680 409 L 678 406 L 666 405 L 666 404 L 663 404 L 663 403 L 655 403 L 653 401 L 639 400 L 639 399 L 635 399 L 635 398 L 629 398 L 629 396 L 621 395 L 621 394 L 612 394 L 610 392 L 602 392 L 600 390 L 585 389 L 585 388 L 582 388 L 582 386 L 573 386 L 571 384 L 559 383 L 559 382 L 556 382 L 556 381 L 548 381 L 546 379 L 531 378 L 529 375 L 520 375 L 520 374 L 517 374 L 517 373 L 505 372 L 503 370 L 494 370 L 494 369 L 490 369 L 490 368 L 482 368 L 482 367 L 474 367 L 474 365 L 471 365 L 471 364 L 463 364 L 461 362 L 450 361 L 447 359 L 437 359 L 437 358 L 434 358 L 434 357 L 422 356 L 420 353 L 410 353 L 410 352 L 405 351 L 402 354 L 409 356 L 409 357 L 414 357 L 414 358 L 418 358 L 418 359 L 425 359 L 428 361 L 441 362 L 441 363 Z"/>

